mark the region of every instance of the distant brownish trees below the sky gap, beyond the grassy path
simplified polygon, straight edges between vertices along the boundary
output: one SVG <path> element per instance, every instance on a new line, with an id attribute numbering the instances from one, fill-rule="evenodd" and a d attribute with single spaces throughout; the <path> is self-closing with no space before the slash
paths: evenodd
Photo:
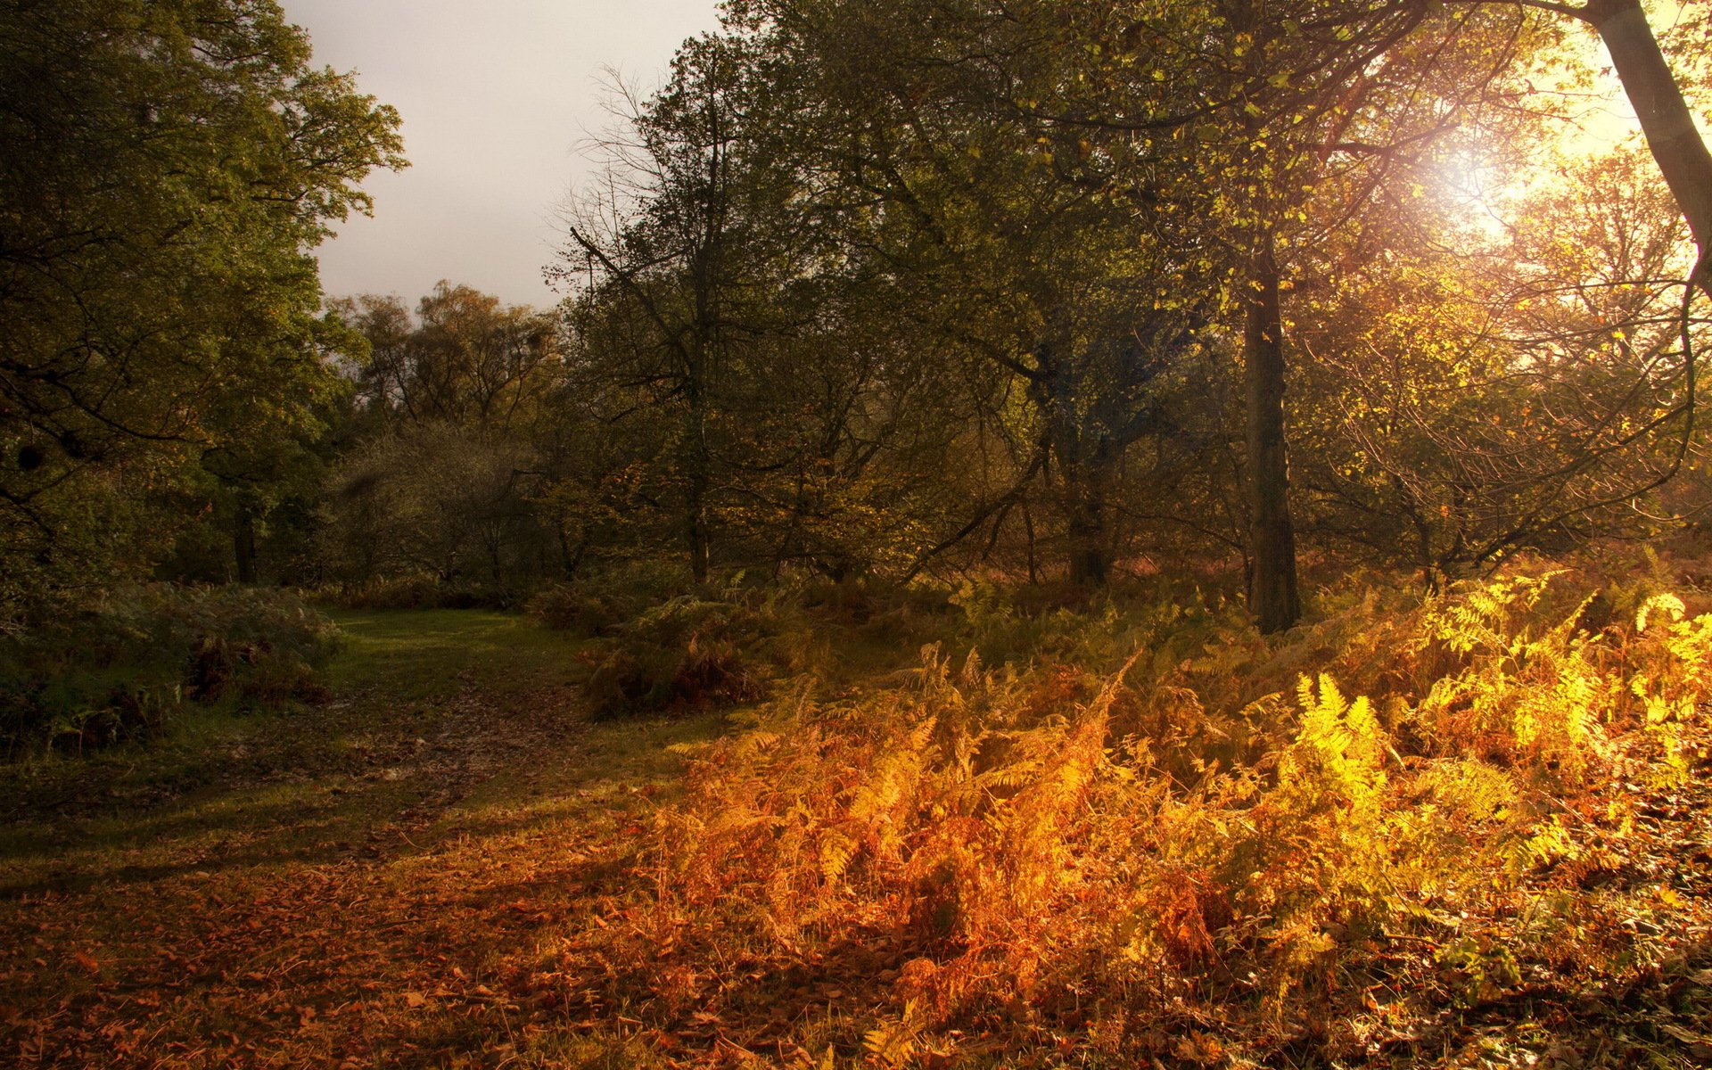
<path id="1" fill-rule="evenodd" d="M 344 580 L 399 574 L 500 592 L 556 570 L 541 495 L 567 409 L 558 317 L 438 282 L 414 317 L 395 296 L 332 303 L 368 342 L 348 361 L 348 443 L 322 496 L 322 546 Z M 546 510 L 555 512 L 553 508 Z M 562 529 L 563 534 L 563 529 Z"/>

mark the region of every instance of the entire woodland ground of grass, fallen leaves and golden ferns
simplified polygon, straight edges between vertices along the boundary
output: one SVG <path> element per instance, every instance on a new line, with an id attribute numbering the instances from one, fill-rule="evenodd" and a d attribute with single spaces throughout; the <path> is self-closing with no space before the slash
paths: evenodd
<path id="1" fill-rule="evenodd" d="M 0 1061 L 1707 1065 L 1705 596 L 1630 575 L 774 599 L 765 698 L 604 721 L 657 637 L 339 613 L 322 705 L 5 770 Z"/>

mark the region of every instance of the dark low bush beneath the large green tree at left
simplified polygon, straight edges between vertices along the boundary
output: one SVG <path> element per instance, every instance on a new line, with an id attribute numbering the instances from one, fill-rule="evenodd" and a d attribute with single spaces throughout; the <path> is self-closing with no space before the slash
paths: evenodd
<path id="1" fill-rule="evenodd" d="M 151 584 L 39 606 L 0 639 L 0 745 L 84 750 L 154 734 L 188 704 L 322 700 L 336 633 L 281 591 Z"/>

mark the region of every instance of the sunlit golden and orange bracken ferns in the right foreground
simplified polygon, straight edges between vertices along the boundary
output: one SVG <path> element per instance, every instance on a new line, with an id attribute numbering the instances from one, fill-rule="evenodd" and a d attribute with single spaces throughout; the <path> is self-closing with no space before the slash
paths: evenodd
<path id="1" fill-rule="evenodd" d="M 1529 909 L 1633 827 L 1620 788 L 1688 776 L 1712 616 L 1662 586 L 1371 587 L 1284 639 L 1217 601 L 957 601 L 907 681 L 829 697 L 805 673 L 693 750 L 647 892 L 570 942 L 589 984 L 666 1029 L 734 1008 L 738 976 L 882 947 L 846 1048 L 870 1063 L 1051 1036 L 1085 1065 L 1214 1065 L 1349 1055 L 1390 983 L 1479 1005 L 1529 964 L 1644 959 Z M 736 616 L 635 627 L 693 649 L 709 620 Z"/>

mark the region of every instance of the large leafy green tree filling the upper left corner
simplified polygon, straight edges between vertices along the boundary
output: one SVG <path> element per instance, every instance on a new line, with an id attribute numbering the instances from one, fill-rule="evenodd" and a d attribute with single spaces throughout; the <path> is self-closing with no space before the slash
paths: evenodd
<path id="1" fill-rule="evenodd" d="M 209 450 L 312 430 L 360 346 L 310 250 L 399 116 L 270 0 L 0 5 L 0 555 L 142 568 Z"/>

